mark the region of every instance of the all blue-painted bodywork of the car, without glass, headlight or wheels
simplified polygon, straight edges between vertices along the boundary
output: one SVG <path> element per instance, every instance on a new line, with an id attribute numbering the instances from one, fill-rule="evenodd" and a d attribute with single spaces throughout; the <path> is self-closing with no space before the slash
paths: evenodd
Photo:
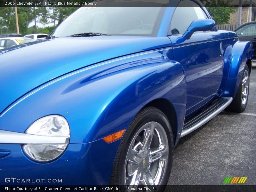
<path id="1" fill-rule="evenodd" d="M 176 145 L 185 116 L 234 97 L 252 44 L 216 28 L 190 39 L 167 36 L 173 11 L 165 9 L 156 37 L 56 38 L 2 50 L 1 130 L 25 132 L 37 119 L 58 114 L 68 121 L 70 143 L 46 164 L 30 160 L 19 144 L 0 144 L 0 184 L 13 185 L 4 178 L 16 177 L 107 185 L 121 140 L 102 138 L 127 128 L 148 103 L 172 106 L 166 115 L 175 117 Z"/>

